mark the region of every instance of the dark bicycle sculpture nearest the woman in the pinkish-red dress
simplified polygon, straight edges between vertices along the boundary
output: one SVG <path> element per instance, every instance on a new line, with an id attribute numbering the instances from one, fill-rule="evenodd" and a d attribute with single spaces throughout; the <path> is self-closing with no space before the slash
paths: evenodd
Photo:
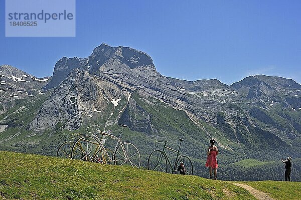
<path id="1" fill-rule="evenodd" d="M 164 143 L 163 149 L 156 149 L 154 150 L 152 153 L 150 153 L 148 160 L 147 160 L 147 169 L 149 170 L 154 170 L 154 171 L 163 171 L 163 172 L 167 172 L 168 171 L 168 166 L 171 167 L 172 169 L 172 173 L 177 173 L 178 172 L 178 165 L 180 164 L 180 162 L 184 163 L 185 166 L 185 170 L 186 170 L 186 174 L 188 175 L 193 175 L 193 165 L 192 162 L 190 160 L 189 157 L 187 157 L 186 155 L 181 155 L 180 154 L 180 147 L 181 147 L 181 143 L 184 139 L 179 138 L 180 140 L 180 145 L 179 145 L 179 149 L 175 150 L 172 149 L 170 147 L 168 147 L 166 145 L 167 141 L 157 141 L 155 142 L 156 147 L 157 143 Z M 172 165 L 165 149 L 174 151 L 177 153 L 177 157 L 175 159 L 175 163 L 174 165 Z M 169 164 L 169 165 L 168 165 Z"/>

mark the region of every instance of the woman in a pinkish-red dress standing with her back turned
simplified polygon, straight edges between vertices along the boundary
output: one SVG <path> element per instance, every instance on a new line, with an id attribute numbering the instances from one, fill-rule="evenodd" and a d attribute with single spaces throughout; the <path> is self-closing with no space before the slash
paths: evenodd
<path id="1" fill-rule="evenodd" d="M 209 175 L 210 179 L 212 179 L 212 169 L 214 170 L 214 179 L 216 180 L 216 173 L 217 173 L 217 159 L 216 155 L 218 154 L 217 146 L 214 145 L 215 140 L 212 138 L 210 140 L 210 146 L 208 147 L 207 151 L 207 161 L 205 166 L 209 167 Z"/>

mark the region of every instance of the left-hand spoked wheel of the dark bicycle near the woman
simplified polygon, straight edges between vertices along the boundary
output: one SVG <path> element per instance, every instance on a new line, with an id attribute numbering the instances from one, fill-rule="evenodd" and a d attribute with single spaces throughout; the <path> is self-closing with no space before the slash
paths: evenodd
<path id="1" fill-rule="evenodd" d="M 147 160 L 147 169 L 167 172 L 167 167 L 167 158 L 163 151 L 157 149 L 150 153 Z"/>

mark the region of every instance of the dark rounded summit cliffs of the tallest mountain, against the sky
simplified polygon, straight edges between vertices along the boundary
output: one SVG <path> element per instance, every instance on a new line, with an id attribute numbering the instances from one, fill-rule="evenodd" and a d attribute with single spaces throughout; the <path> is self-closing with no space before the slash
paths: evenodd
<path id="1" fill-rule="evenodd" d="M 100 68 L 103 67 L 102 70 Z M 156 71 L 152 58 L 146 53 L 129 47 L 111 47 L 101 44 L 96 47 L 87 58 L 61 58 L 54 67 L 53 78 L 43 89 L 48 90 L 57 87 L 68 74 L 78 68 L 90 73 L 100 71 L 101 73 L 113 70 L 118 74 L 131 74 L 128 69 L 142 67 L 139 71 Z"/>

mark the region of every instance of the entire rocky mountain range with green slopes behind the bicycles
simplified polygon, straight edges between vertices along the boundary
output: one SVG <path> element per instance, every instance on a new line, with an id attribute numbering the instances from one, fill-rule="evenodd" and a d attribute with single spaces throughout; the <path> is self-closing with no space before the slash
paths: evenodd
<path id="1" fill-rule="evenodd" d="M 224 168 L 244 158 L 301 157 L 301 85 L 291 79 L 256 75 L 230 86 L 179 80 L 162 76 L 141 51 L 106 44 L 87 58 L 63 57 L 47 81 L 20 73 L 1 72 L 1 81 L 36 92 L 12 97 L 22 99 L 13 107 L 1 103 L 7 107 L 0 115 L 1 149 L 53 155 L 91 124 L 114 130 L 122 123 L 128 125 L 122 137 L 139 146 L 144 166 L 154 141 L 175 146 L 178 137 L 186 139 L 182 150 L 197 174 L 207 171 L 211 137 Z"/>

